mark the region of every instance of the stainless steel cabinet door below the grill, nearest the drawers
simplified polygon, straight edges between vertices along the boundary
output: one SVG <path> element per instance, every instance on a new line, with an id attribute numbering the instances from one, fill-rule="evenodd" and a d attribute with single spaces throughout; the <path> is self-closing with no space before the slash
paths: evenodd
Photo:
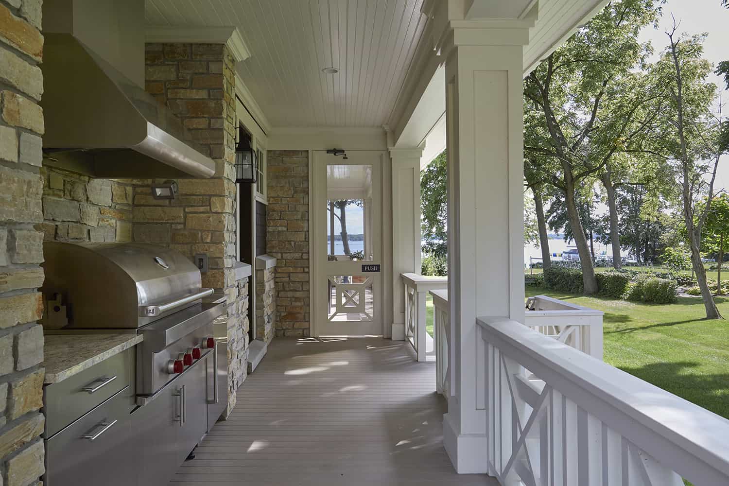
<path id="1" fill-rule="evenodd" d="M 131 415 L 137 486 L 166 485 L 179 465 L 176 444 L 182 423 L 177 388 L 163 389 Z"/>

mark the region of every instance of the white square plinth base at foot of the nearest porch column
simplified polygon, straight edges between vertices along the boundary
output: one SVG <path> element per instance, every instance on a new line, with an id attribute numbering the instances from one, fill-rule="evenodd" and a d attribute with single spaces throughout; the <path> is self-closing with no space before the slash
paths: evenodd
<path id="1" fill-rule="evenodd" d="M 451 414 L 443 415 L 443 446 L 458 474 L 488 473 L 486 434 L 459 434 Z"/>

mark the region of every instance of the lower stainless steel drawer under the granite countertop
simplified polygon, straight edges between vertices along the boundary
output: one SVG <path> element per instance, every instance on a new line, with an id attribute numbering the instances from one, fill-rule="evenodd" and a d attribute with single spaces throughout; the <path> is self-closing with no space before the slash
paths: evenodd
<path id="1" fill-rule="evenodd" d="M 129 486 L 133 436 L 123 391 L 46 440 L 46 486 Z"/>

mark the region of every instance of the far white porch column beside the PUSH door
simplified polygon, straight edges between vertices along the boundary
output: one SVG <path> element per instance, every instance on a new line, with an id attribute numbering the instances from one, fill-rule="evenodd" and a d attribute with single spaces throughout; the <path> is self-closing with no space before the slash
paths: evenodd
<path id="1" fill-rule="evenodd" d="M 401 273 L 420 273 L 420 158 L 422 148 L 390 149 L 392 160 L 392 339 L 405 340 Z"/>

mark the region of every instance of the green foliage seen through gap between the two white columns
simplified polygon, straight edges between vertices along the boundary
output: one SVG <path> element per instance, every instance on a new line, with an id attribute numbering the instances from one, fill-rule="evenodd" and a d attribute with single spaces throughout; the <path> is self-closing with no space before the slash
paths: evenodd
<path id="1" fill-rule="evenodd" d="M 426 254 L 448 254 L 448 172 L 445 151 L 420 173 L 421 238 Z"/>

